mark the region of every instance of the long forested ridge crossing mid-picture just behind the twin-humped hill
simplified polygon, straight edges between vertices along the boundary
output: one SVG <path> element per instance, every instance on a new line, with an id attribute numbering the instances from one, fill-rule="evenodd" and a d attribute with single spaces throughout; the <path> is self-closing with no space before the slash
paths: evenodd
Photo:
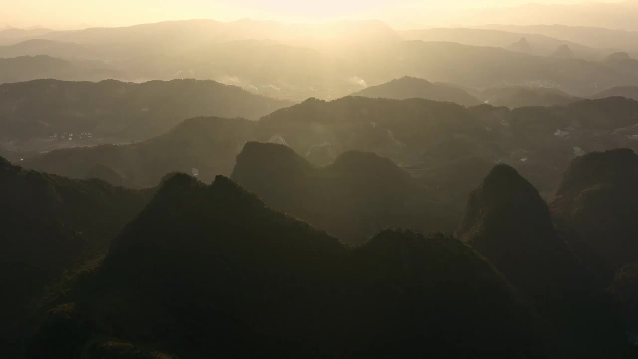
<path id="1" fill-rule="evenodd" d="M 636 113 L 638 102 L 621 97 L 512 110 L 491 105 L 465 108 L 419 98 L 309 99 L 256 122 L 191 119 L 149 141 L 52 151 L 23 164 L 85 178 L 100 163 L 127 178 L 128 186 L 153 187 L 172 171 L 199 169 L 204 181 L 216 174 L 230 176 L 245 142 L 283 141 L 318 165 L 329 164 L 349 150 L 373 152 L 416 176 L 426 174 L 424 179 L 433 188 L 445 186 L 438 171 L 448 171 L 450 165 L 468 158 L 478 158 L 487 168 L 503 162 L 549 197 L 575 156 L 612 148 L 638 149 L 632 137 L 638 124 Z M 224 132 L 230 134 L 227 139 L 221 135 Z M 193 136 L 191 141 L 188 136 Z M 471 188 L 475 183 L 466 182 L 459 185 Z"/>

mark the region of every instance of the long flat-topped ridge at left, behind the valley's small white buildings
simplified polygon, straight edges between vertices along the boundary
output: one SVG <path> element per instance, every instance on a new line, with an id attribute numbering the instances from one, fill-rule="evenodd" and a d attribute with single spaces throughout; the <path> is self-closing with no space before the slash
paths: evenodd
<path id="1" fill-rule="evenodd" d="M 0 91 L 0 129 L 9 139 L 68 133 L 78 141 L 81 132 L 91 132 L 93 138 L 130 142 L 162 134 L 186 118 L 258 119 L 292 104 L 200 80 L 34 80 L 3 84 Z"/>

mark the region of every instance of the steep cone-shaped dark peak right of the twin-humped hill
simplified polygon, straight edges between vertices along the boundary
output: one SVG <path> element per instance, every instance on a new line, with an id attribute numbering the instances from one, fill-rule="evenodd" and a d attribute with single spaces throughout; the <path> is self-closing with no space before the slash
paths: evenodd
<path id="1" fill-rule="evenodd" d="M 551 283 L 562 285 L 574 274 L 573 258 L 554 230 L 547 204 L 508 165 L 494 166 L 471 192 L 457 234 L 532 296 L 542 298 Z"/>

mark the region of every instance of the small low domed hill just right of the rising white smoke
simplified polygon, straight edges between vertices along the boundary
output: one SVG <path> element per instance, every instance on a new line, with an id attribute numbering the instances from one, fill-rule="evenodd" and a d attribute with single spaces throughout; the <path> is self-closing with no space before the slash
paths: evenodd
<path id="1" fill-rule="evenodd" d="M 479 104 L 479 100 L 463 89 L 448 84 L 433 84 L 424 79 L 408 76 L 379 86 L 362 89 L 353 93 L 352 96 L 394 98 L 396 100 L 418 97 L 433 101 L 454 102 L 464 106 Z"/>

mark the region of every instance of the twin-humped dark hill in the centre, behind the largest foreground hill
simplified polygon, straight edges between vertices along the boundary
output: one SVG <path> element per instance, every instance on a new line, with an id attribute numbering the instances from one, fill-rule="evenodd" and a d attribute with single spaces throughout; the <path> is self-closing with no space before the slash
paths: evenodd
<path id="1" fill-rule="evenodd" d="M 231 178 L 272 208 L 350 244 L 386 227 L 449 232 L 461 218 L 435 200 L 436 192 L 374 153 L 347 151 L 316 167 L 281 144 L 248 142 Z"/>

